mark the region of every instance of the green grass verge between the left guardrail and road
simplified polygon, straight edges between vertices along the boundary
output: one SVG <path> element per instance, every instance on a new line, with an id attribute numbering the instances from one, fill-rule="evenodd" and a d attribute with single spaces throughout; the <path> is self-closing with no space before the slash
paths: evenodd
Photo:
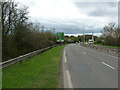
<path id="1" fill-rule="evenodd" d="M 58 88 L 60 59 L 65 45 L 3 69 L 3 88 Z"/>

